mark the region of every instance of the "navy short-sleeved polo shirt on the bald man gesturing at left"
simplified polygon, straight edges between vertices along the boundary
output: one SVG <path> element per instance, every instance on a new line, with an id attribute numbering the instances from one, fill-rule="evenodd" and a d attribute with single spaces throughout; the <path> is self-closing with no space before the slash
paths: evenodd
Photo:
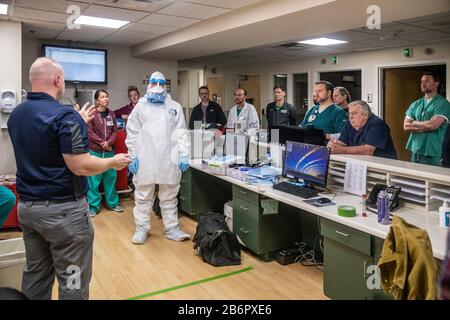
<path id="1" fill-rule="evenodd" d="M 87 126 L 78 112 L 32 92 L 11 113 L 8 130 L 20 199 L 73 200 L 87 193 L 87 179 L 73 174 L 63 159 L 63 153 L 88 152 Z"/>

